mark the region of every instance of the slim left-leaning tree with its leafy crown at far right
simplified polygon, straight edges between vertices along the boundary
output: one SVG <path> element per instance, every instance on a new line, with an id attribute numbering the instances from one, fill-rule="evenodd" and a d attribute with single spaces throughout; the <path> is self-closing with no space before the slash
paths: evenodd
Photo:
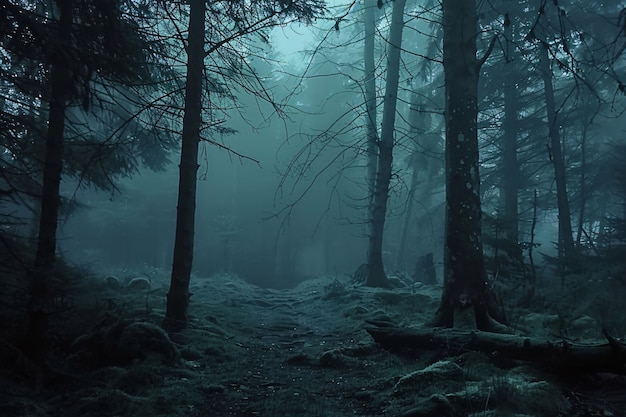
<path id="1" fill-rule="evenodd" d="M 587 199 L 585 174 L 589 127 L 600 110 L 610 106 L 608 96 L 613 94 L 607 92 L 607 79 L 619 83 L 608 70 L 614 60 L 614 30 L 600 23 L 616 20 L 609 12 L 612 7 L 606 8 L 604 4 L 585 6 L 592 8 L 594 13 L 590 15 L 579 8 L 569 10 L 558 2 L 542 2 L 526 37 L 534 47 L 543 84 L 548 158 L 556 188 L 558 251 L 562 266 L 580 266 L 575 244 L 580 238 L 574 239 L 572 207 L 578 199 L 581 225 Z M 616 12 L 614 8 L 611 11 Z M 578 144 L 580 152 L 567 146 L 566 136 L 570 136 L 567 142 Z M 576 171 L 582 177 L 579 184 L 571 178 Z"/>

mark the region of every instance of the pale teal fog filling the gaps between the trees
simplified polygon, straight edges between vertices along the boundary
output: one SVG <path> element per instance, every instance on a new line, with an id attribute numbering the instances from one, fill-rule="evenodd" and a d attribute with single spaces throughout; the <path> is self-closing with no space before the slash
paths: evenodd
<path id="1" fill-rule="evenodd" d="M 347 10 L 347 6 L 335 7 Z M 280 288 L 313 276 L 352 274 L 365 261 L 365 158 L 362 143 L 356 145 L 362 142 L 364 128 L 358 108 L 361 92 L 355 83 L 361 77 L 362 57 L 361 44 L 354 42 L 359 39 L 355 25 L 348 15 L 340 31 L 333 31 L 331 22 L 326 27 L 317 25 L 316 30 L 300 24 L 276 28 L 265 57 L 250 58 L 285 113 L 279 116 L 267 102 L 239 91 L 237 108 L 223 121 L 235 133 L 212 136 L 219 146 L 201 143 L 195 274 L 230 272 L 254 284 Z M 407 42 L 407 50 L 425 53 L 424 25 L 407 22 L 407 30 L 417 34 Z M 404 74 L 405 83 L 410 84 L 409 77 Z M 433 93 L 439 94 L 440 87 Z M 399 111 L 407 113 L 410 88 L 401 94 Z M 436 105 L 432 111 L 433 118 L 440 117 Z M 434 120 L 432 126 L 437 123 Z M 398 131 L 408 131 L 404 118 L 398 125 Z M 415 145 L 408 136 L 398 135 L 394 151 L 385 265 L 391 272 L 411 275 L 416 260 L 433 253 L 441 277 L 443 172 L 435 172 L 418 186 L 407 223 L 411 180 L 407 158 L 415 146 L 425 146 Z M 426 165 L 443 160 L 441 126 L 434 129 L 434 137 L 424 156 Z M 77 209 L 60 225 L 63 255 L 102 273 L 169 270 L 178 158 L 172 152 L 165 171 L 142 168 L 118 181 L 113 191 L 99 192 L 65 181 L 64 196 Z M 485 207 L 489 210 L 488 201 Z M 552 254 L 553 212 L 543 213 L 540 223 L 536 241 L 542 251 Z M 408 249 L 400 259 L 400 239 L 407 224 Z"/>

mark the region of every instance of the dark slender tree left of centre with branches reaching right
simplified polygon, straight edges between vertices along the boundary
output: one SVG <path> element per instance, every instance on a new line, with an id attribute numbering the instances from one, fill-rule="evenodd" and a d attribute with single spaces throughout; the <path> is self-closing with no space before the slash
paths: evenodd
<path id="1" fill-rule="evenodd" d="M 189 282 L 193 266 L 196 182 L 198 170 L 198 146 L 203 123 L 203 111 L 214 110 L 212 101 L 207 99 L 203 107 L 203 91 L 214 91 L 235 101 L 237 86 L 251 91 L 259 98 L 273 100 L 255 76 L 237 47 L 228 47 L 235 40 L 245 40 L 252 34 L 267 39 L 263 31 L 283 23 L 287 18 L 310 23 L 316 15 L 324 11 L 318 0 L 257 2 L 252 7 L 231 2 L 207 3 L 206 0 L 191 0 L 189 8 L 189 33 L 187 38 L 187 78 L 185 86 L 185 108 L 181 142 L 180 178 L 178 187 L 178 207 L 176 216 L 176 236 L 174 260 L 170 288 L 167 293 L 167 308 L 163 326 L 169 331 L 178 331 L 188 324 Z M 209 33 L 205 33 L 206 14 L 212 16 Z M 231 26 L 232 24 L 232 26 Z M 208 35 L 208 48 L 205 50 L 205 36 Z M 182 39 L 181 39 L 182 40 Z M 205 59 L 212 57 L 218 62 L 214 74 L 203 79 Z M 221 66 L 220 66 L 221 65 Z M 208 71 L 205 71 L 207 73 Z M 222 77 L 219 79 L 218 77 Z M 252 80 L 251 83 L 248 81 Z M 230 85 L 229 85 L 230 83 Z M 275 103 L 273 103 L 275 104 Z M 214 120 L 211 122 L 219 124 Z M 208 140 L 213 144 L 215 141 Z M 242 155 L 237 155 L 243 157 Z"/>

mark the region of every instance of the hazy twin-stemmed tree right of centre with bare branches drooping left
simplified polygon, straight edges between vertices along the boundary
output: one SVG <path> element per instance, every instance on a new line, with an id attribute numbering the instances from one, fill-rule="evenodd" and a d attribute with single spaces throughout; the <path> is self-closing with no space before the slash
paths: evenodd
<path id="1" fill-rule="evenodd" d="M 348 78 L 350 81 L 343 82 L 338 86 L 339 89 L 320 89 L 333 99 L 331 101 L 329 97 L 325 97 L 325 103 L 335 105 L 341 103 L 338 111 L 333 108 L 330 112 L 330 114 L 338 113 L 338 116 L 328 121 L 323 119 L 324 116 L 320 113 L 322 126 L 316 124 L 311 126 L 311 130 L 315 132 L 321 130 L 322 133 L 302 134 L 309 139 L 302 149 L 295 153 L 284 174 L 284 178 L 295 178 L 296 184 L 307 184 L 306 189 L 295 199 L 295 202 L 281 210 L 289 214 L 295 204 L 300 202 L 311 189 L 313 183 L 320 182 L 322 173 L 336 169 L 337 173 L 331 174 L 333 188 L 329 193 L 331 196 L 329 202 L 338 200 L 342 205 L 351 203 L 354 205 L 356 200 L 355 207 L 362 209 L 365 213 L 363 223 L 365 223 L 368 244 L 366 261 L 355 272 L 355 278 L 369 286 L 390 285 L 383 265 L 383 235 L 385 224 L 388 223 L 387 218 L 393 215 L 394 201 L 390 197 L 393 197 L 394 193 L 401 195 L 404 184 L 401 175 L 394 175 L 394 168 L 398 168 L 401 164 L 396 166 L 393 164 L 393 147 L 398 143 L 406 142 L 409 137 L 412 139 L 411 127 L 407 126 L 409 117 L 407 117 L 406 104 L 409 101 L 410 87 L 417 66 L 413 57 L 421 54 L 408 52 L 404 54 L 404 58 L 401 58 L 402 51 L 406 50 L 406 47 L 397 46 L 398 43 L 393 40 L 399 39 L 402 42 L 402 30 L 405 26 L 403 16 L 406 17 L 406 15 L 404 11 L 399 11 L 401 6 L 402 3 L 398 2 L 389 2 L 386 6 L 381 2 L 376 4 L 366 2 L 358 12 L 358 25 L 346 26 L 350 19 L 344 20 L 344 18 L 350 16 L 350 13 L 346 13 L 337 20 L 330 35 L 338 32 L 336 33 L 338 42 L 329 40 L 331 36 L 328 32 L 325 34 L 314 51 L 311 63 L 323 60 L 325 65 L 331 67 L 331 70 L 322 78 L 322 75 L 309 71 L 314 66 L 309 65 L 302 79 L 306 80 L 306 85 L 313 85 L 316 82 L 330 85 L 331 81 L 327 81 L 326 78 L 331 77 L 334 77 L 333 80 Z M 424 7 L 426 6 L 416 6 L 411 13 L 432 13 L 430 9 L 424 9 Z M 435 9 L 436 6 L 432 5 L 432 8 Z M 378 9 L 382 12 L 377 13 Z M 413 22 L 417 20 L 421 21 L 421 19 L 409 19 Z M 363 52 L 351 62 L 349 48 L 355 42 L 359 44 L 362 42 Z M 435 45 L 434 50 L 436 49 Z M 384 63 L 387 65 L 383 65 Z M 362 72 L 355 76 L 351 72 L 353 68 L 358 68 Z M 336 72 L 332 73 L 333 70 Z M 401 78 L 408 87 L 403 88 L 400 85 Z M 384 80 L 386 85 L 377 87 L 379 80 L 381 83 Z M 395 91 L 387 90 L 394 84 Z M 351 90 L 356 90 L 360 94 L 351 95 Z M 312 95 L 317 100 L 315 92 L 307 97 Z M 355 96 L 361 97 L 362 100 L 357 101 L 354 99 Z M 328 107 L 330 106 L 326 106 L 324 110 Z M 307 107 L 307 110 L 311 111 L 310 107 Z M 377 122 L 380 116 L 383 117 L 382 123 Z M 310 123 L 308 119 L 307 122 Z M 412 147 L 412 145 L 409 146 Z M 423 149 L 429 149 L 427 145 L 421 143 L 417 145 L 418 148 L 422 146 Z M 362 168 L 364 168 L 364 174 L 360 173 Z M 316 174 L 310 175 L 311 172 Z M 351 178 L 350 172 L 359 172 L 358 177 Z M 350 186 L 347 191 L 339 189 L 337 186 L 339 179 L 345 179 L 354 185 Z M 354 197 L 355 186 L 364 190 L 363 195 Z M 283 181 L 281 181 L 280 188 L 283 188 Z M 344 196 L 350 198 L 351 201 L 342 201 L 341 198 Z M 328 211 L 326 210 L 324 215 Z M 348 216 L 346 221 L 353 223 L 354 217 Z"/>

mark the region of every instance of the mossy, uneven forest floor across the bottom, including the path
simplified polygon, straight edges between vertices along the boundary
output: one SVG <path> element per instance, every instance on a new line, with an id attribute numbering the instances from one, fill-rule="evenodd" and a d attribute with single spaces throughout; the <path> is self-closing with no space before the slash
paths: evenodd
<path id="1" fill-rule="evenodd" d="M 403 357 L 372 341 L 368 320 L 423 326 L 439 286 L 383 290 L 320 277 L 272 290 L 227 274 L 193 277 L 190 326 L 168 338 L 158 327 L 167 285 L 159 271 L 82 285 L 72 308 L 51 318 L 58 340 L 39 394 L 16 377 L 24 361 L 5 343 L 0 415 L 626 416 L 623 376 L 566 379 L 443 347 Z M 570 340 L 603 343 L 597 319 L 583 313 L 542 307 L 516 311 L 514 322 L 520 334 L 554 338 L 566 327 Z"/>

